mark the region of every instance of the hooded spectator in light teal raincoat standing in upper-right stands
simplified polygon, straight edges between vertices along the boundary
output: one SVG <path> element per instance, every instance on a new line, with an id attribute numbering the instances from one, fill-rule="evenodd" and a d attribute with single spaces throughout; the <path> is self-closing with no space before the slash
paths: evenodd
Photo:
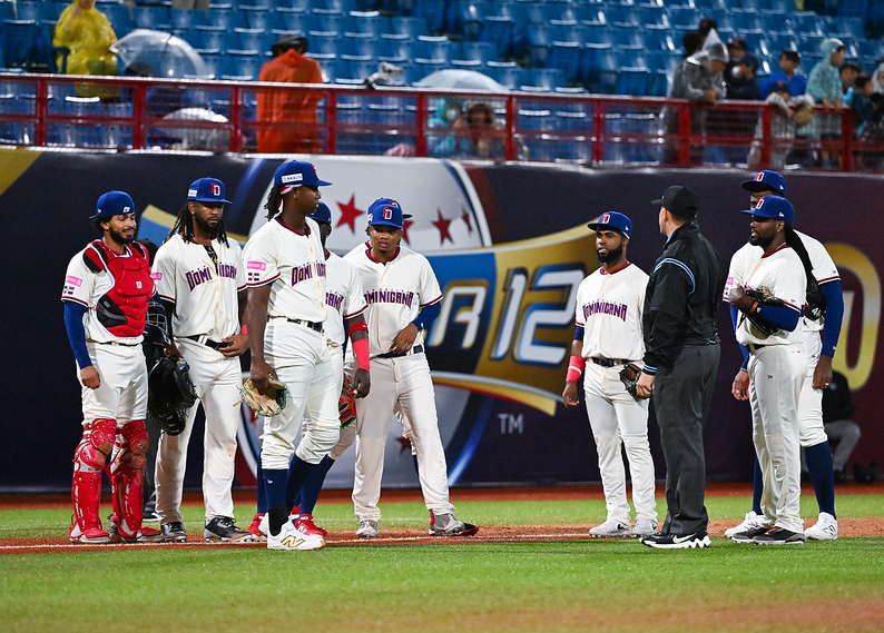
<path id="1" fill-rule="evenodd" d="M 841 105 L 844 100 L 844 91 L 841 87 L 841 76 L 838 68 L 844 63 L 844 42 L 837 38 L 826 38 L 819 44 L 823 53 L 821 59 L 811 70 L 807 79 L 807 93 L 814 98 L 814 102 L 824 108 L 824 112 L 817 112 L 814 126 L 808 136 L 821 139 L 824 144 L 819 149 L 819 166 L 826 168 L 837 167 L 839 152 L 828 147 L 825 141 L 833 141 L 841 138 Z M 809 127 L 809 126 L 808 126 Z"/>

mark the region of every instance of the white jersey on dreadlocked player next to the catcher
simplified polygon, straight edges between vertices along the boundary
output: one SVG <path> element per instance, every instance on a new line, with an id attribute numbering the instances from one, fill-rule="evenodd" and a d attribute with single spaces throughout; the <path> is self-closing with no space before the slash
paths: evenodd
<path id="1" fill-rule="evenodd" d="M 245 288 L 243 251 L 235 239 L 227 246 L 212 240 L 213 263 L 200 244 L 171 236 L 157 250 L 153 278 L 159 296 L 175 304 L 176 337 L 208 335 L 222 340 L 239 332 L 237 293 Z"/>

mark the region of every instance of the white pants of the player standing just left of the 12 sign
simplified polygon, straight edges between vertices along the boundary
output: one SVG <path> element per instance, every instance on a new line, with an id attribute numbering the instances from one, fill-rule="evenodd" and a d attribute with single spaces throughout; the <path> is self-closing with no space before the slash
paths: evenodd
<path id="1" fill-rule="evenodd" d="M 384 448 L 393 408 L 399 403 L 411 421 L 411 442 L 418 454 L 418 475 L 426 508 L 454 513 L 449 503 L 448 465 L 435 409 L 433 380 L 424 354 L 372 358 L 371 393 L 356 400 L 356 473 L 353 506 L 360 521 L 380 521 Z"/>

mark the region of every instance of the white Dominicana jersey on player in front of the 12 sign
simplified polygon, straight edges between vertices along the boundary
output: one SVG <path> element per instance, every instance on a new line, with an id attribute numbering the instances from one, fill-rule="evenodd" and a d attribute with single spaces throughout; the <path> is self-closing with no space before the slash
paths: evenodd
<path id="1" fill-rule="evenodd" d="M 442 300 L 430 261 L 409 248 L 400 246 L 396 256 L 383 264 L 372 259 L 370 246 L 365 244 L 347 253 L 344 259 L 356 267 L 369 305 L 365 320 L 372 356 L 389 352 L 393 338 L 418 317 L 421 308 Z M 422 343 L 419 332 L 414 345 Z"/>

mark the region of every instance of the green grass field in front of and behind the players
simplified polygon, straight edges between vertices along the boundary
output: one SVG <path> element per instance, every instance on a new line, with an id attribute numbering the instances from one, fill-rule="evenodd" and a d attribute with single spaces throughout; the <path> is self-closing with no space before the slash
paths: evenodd
<path id="1" fill-rule="evenodd" d="M 713 520 L 741 518 L 745 504 L 708 500 Z M 882 507 L 881 496 L 838 497 L 842 517 Z M 599 501 L 458 508 L 483 525 L 589 523 L 605 513 Z M 355 526 L 350 504 L 320 510 L 332 530 Z M 382 528 L 424 525 L 420 503 L 382 510 Z M 198 531 L 203 508 L 185 511 Z M 812 498 L 803 514 L 815 515 Z M 0 538 L 63 536 L 68 517 L 0 511 Z M 669 552 L 581 540 L 0 555 L 0 631 L 880 631 L 882 561 L 884 538 L 872 537 L 779 547 L 714 538 L 708 550 Z"/>

